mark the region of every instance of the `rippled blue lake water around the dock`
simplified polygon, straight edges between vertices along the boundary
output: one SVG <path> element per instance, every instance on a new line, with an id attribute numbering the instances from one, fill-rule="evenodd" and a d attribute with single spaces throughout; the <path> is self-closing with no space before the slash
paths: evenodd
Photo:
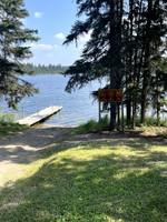
<path id="1" fill-rule="evenodd" d="M 90 92 L 102 87 L 99 82 L 86 85 L 72 93 L 65 92 L 68 78 L 61 74 L 24 75 L 24 80 L 35 83 L 40 93 L 24 98 L 19 104 L 19 112 L 8 109 L 2 100 L 0 109 L 3 113 L 14 113 L 16 119 L 30 115 L 48 105 L 62 105 L 62 110 L 49 118 L 45 124 L 78 125 L 90 119 L 98 119 L 98 102 L 94 101 Z"/>

